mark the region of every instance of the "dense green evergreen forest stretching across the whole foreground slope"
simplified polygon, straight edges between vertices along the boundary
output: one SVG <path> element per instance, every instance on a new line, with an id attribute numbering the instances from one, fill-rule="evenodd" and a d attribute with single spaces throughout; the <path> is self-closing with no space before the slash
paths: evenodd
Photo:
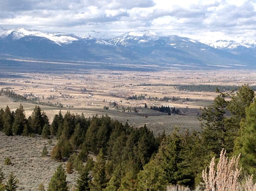
<path id="1" fill-rule="evenodd" d="M 146 126 L 133 128 L 107 115 L 85 118 L 61 111 L 49 124 L 39 106 L 25 118 L 22 105 L 15 112 L 8 106 L 0 110 L 0 130 L 7 136 L 57 138 L 49 154 L 67 165 L 58 166 L 47 182 L 48 190 L 72 190 L 66 173 L 74 170 L 79 173 L 76 191 L 165 191 L 166 185 L 177 184 L 193 189 L 203 182 L 202 171 L 223 148 L 228 156 L 241 153 L 242 167 L 255 172 L 256 142 L 248 136 L 255 134 L 254 97 L 248 85 L 237 92 L 219 91 L 214 103 L 202 109 L 201 132 L 181 134 L 176 129 L 155 137 Z M 2 179 L 0 184 L 4 187 Z"/>

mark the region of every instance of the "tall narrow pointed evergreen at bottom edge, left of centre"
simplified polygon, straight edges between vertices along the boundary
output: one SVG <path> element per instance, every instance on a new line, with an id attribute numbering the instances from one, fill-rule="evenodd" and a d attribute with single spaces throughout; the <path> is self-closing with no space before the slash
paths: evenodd
<path id="1" fill-rule="evenodd" d="M 100 149 L 99 154 L 96 157 L 96 162 L 93 167 L 92 175 L 93 181 L 91 182 L 92 191 L 102 191 L 106 188 L 106 173 L 105 173 L 105 157 L 103 150 Z"/>

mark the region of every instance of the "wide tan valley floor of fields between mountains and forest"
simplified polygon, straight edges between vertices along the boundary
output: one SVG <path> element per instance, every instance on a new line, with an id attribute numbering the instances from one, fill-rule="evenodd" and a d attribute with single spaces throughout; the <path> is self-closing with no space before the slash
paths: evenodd
<path id="1" fill-rule="evenodd" d="M 200 130 L 198 115 L 199 108 L 208 106 L 217 95 L 212 92 L 180 91 L 172 84 L 208 84 L 208 85 L 256 85 L 256 73 L 250 71 L 162 71 L 162 72 L 134 72 L 134 71 L 82 71 L 77 72 L 48 72 L 48 73 L 15 73 L 6 72 L 0 75 L 0 88 L 12 88 L 21 95 L 37 98 L 41 102 L 62 104 L 63 108 L 40 106 L 46 112 L 50 122 L 55 114 L 67 110 L 72 113 L 84 113 L 85 117 L 107 114 L 113 119 L 135 127 L 147 125 L 155 134 L 172 132 L 173 128 Z M 141 84 L 153 84 L 145 86 Z M 155 85 L 154 85 L 155 84 Z M 127 100 L 132 95 L 144 95 L 143 100 Z M 189 101 L 156 101 L 149 97 L 180 97 Z M 109 107 L 115 101 L 119 110 Z M 166 113 L 145 109 L 151 106 L 169 106 L 180 108 L 184 115 L 167 116 Z M 0 96 L 0 108 L 6 105 L 15 110 L 20 103 L 13 102 L 6 96 Z M 33 112 L 35 104 L 21 103 L 26 116 Z M 108 110 L 103 109 L 109 107 Z M 125 112 L 121 108 L 126 108 Z M 127 107 L 136 107 L 138 113 L 127 112 Z"/>

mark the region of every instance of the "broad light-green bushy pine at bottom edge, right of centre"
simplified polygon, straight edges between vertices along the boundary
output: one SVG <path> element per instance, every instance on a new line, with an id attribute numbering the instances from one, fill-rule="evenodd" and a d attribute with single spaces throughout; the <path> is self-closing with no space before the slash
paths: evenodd
<path id="1" fill-rule="evenodd" d="M 153 160 L 138 173 L 137 191 L 145 191 L 147 188 L 149 191 L 165 190 L 166 185 L 162 169 Z"/>

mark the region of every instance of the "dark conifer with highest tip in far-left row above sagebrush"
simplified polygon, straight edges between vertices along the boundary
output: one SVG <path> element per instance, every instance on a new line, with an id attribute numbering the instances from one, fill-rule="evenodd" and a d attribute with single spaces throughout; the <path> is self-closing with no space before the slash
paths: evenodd
<path id="1" fill-rule="evenodd" d="M 25 117 L 25 111 L 23 106 L 20 104 L 18 109 L 15 111 L 15 119 L 12 124 L 12 131 L 15 135 L 21 135 L 24 129 L 24 125 L 27 122 Z"/>

